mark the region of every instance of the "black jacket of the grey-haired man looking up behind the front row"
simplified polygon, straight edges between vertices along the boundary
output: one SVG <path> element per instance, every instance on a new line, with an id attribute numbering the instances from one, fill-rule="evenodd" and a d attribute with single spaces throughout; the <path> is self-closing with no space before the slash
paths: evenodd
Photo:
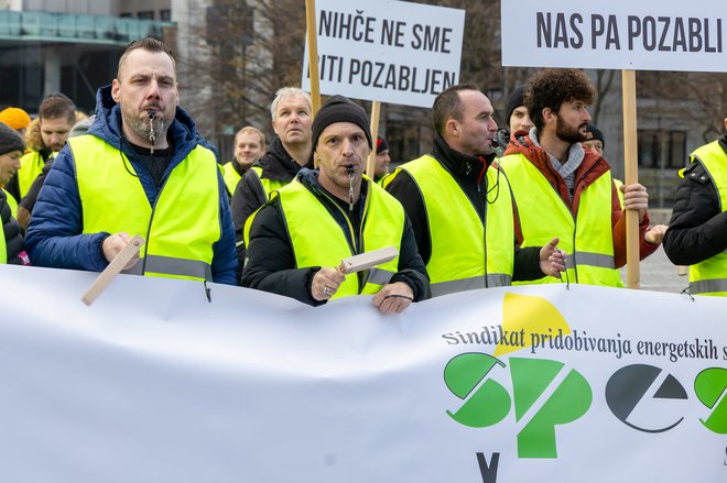
<path id="1" fill-rule="evenodd" d="M 260 177 L 285 184 L 292 182 L 297 172 L 301 171 L 301 165 L 285 151 L 278 136 L 270 143 L 265 154 L 254 165 L 262 167 Z M 307 166 L 312 165 L 313 162 L 308 160 Z M 235 223 L 235 241 L 237 243 L 238 278 L 242 273 L 245 263 L 245 222 L 265 201 L 268 201 L 268 194 L 260 183 L 258 174 L 252 169 L 248 169 L 237 184 L 230 201 L 232 222 Z"/>

